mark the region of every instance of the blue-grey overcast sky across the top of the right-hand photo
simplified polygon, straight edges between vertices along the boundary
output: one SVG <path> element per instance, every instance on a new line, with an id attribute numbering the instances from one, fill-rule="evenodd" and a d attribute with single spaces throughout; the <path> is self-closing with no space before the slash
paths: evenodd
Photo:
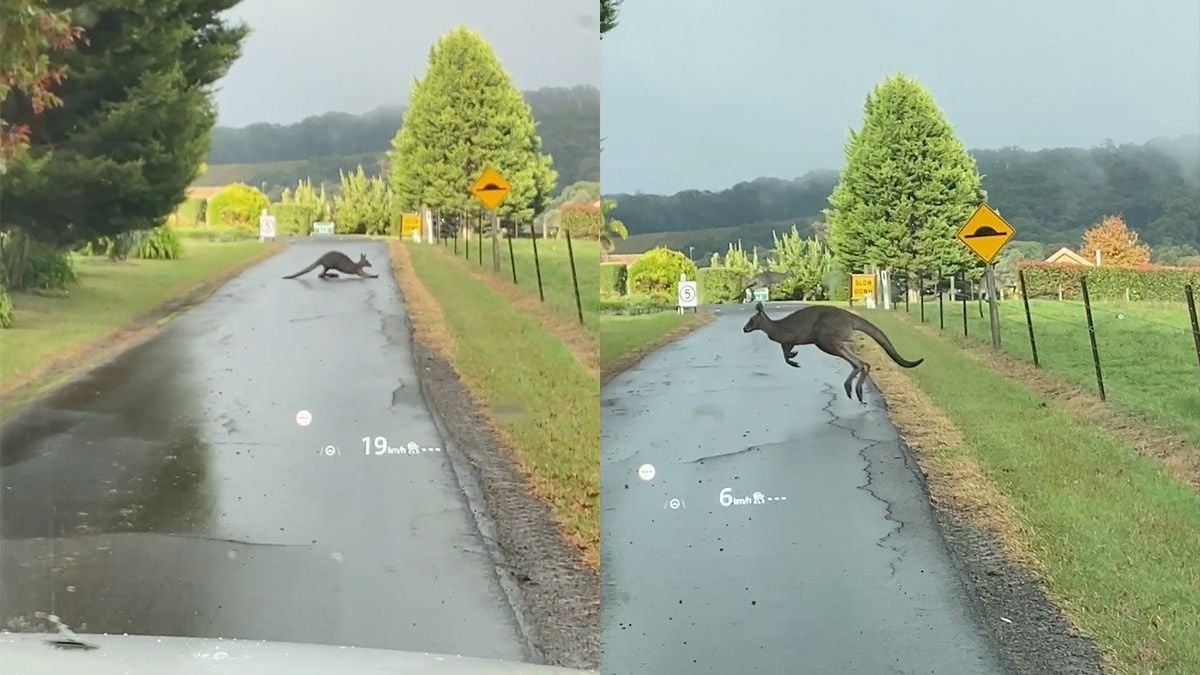
<path id="1" fill-rule="evenodd" d="M 625 0 L 618 22 L 601 55 L 606 193 L 839 168 L 896 70 L 968 148 L 1200 131 L 1196 0 Z"/>

